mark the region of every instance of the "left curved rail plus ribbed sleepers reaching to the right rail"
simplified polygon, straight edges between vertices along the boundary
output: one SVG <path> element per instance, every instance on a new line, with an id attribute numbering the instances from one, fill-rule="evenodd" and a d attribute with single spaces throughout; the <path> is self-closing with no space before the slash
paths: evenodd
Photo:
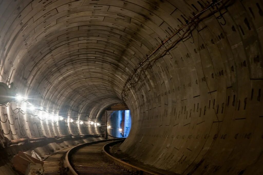
<path id="1" fill-rule="evenodd" d="M 135 174 L 105 157 L 103 147 L 116 140 L 89 142 L 70 149 L 66 154 L 69 174 Z"/>

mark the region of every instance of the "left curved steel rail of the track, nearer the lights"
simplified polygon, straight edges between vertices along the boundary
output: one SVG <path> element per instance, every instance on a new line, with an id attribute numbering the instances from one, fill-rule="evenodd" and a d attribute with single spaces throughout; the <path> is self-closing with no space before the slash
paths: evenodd
<path id="1" fill-rule="evenodd" d="M 68 168 L 68 174 L 72 174 L 72 175 L 78 175 L 78 171 L 76 169 L 76 167 L 74 167 L 74 164 L 73 164 L 73 156 L 74 156 L 74 153 L 76 153 L 77 151 L 79 151 L 80 149 L 84 149 L 84 147 L 87 147 L 87 146 L 92 146 L 94 144 L 98 144 L 98 143 L 102 143 L 102 142 L 108 142 L 108 141 L 114 141 L 114 140 L 123 140 L 123 138 L 120 138 L 120 139 L 107 139 L 107 140 L 99 140 L 99 141 L 93 141 L 93 142 L 88 142 L 88 143 L 83 143 L 83 144 L 80 144 L 80 145 L 77 145 L 73 148 L 71 148 L 66 156 L 65 156 L 65 162 L 66 162 L 66 166 Z M 101 146 L 102 148 L 102 146 Z M 100 149 L 101 149 L 100 148 Z M 81 150 L 80 150 L 81 151 Z M 98 153 L 98 151 L 96 152 Z M 81 155 L 81 158 L 85 158 L 87 157 L 88 155 Z M 81 162 L 82 160 L 80 160 Z M 107 167 L 106 167 L 107 168 Z M 85 167 L 83 167 L 82 169 L 85 169 Z M 89 174 L 89 173 L 87 173 Z"/>

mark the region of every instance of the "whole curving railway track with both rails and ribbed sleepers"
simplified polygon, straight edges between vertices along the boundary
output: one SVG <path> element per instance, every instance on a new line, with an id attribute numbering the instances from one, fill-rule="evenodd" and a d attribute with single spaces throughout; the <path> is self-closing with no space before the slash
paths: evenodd
<path id="1" fill-rule="evenodd" d="M 44 175 L 163 174 L 139 168 L 112 156 L 111 147 L 123 142 L 123 140 L 99 140 L 65 148 L 46 159 Z"/>

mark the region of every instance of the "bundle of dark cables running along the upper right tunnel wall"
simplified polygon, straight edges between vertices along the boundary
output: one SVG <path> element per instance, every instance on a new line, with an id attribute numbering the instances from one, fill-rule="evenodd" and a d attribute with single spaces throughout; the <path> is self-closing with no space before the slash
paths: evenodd
<path id="1" fill-rule="evenodd" d="M 225 8 L 226 3 L 228 3 L 231 0 L 226 0 L 224 2 L 222 2 L 222 1 L 223 0 L 220 0 L 219 2 L 215 2 L 214 0 L 211 1 L 206 7 L 204 7 L 202 9 L 201 12 L 195 14 L 194 17 L 190 19 L 190 21 L 186 22 L 185 25 L 180 27 L 174 34 L 172 34 L 170 37 L 165 39 L 165 41 L 162 41 L 161 44 L 149 56 L 147 56 L 146 59 L 144 59 L 144 61 L 142 61 L 136 69 L 134 69 L 134 73 L 127 79 L 127 81 L 125 82 L 125 84 L 123 86 L 123 91 L 121 94 L 121 98 L 122 98 L 123 102 L 125 102 L 127 100 L 127 97 L 128 97 L 127 91 L 130 91 L 130 89 L 136 90 L 136 88 L 135 88 L 136 83 L 138 83 L 138 81 L 142 82 L 141 75 L 145 75 L 146 69 L 149 68 L 150 71 L 153 72 L 152 71 L 152 65 L 151 65 L 152 62 L 155 62 L 157 59 L 165 56 L 167 54 L 167 52 L 169 52 L 170 49 L 174 48 L 175 45 L 177 43 L 179 43 L 180 41 L 182 41 L 183 39 L 193 37 L 192 31 L 196 28 L 196 26 L 199 24 L 199 22 L 201 22 L 204 19 L 214 15 L 216 12 L 219 12 L 221 14 L 220 10 L 222 8 Z M 222 2 L 222 4 L 220 5 L 221 2 Z M 220 5 L 220 7 L 218 7 L 217 5 Z M 216 6 L 216 9 L 214 9 L 214 6 Z M 210 13 L 208 13 L 206 16 L 200 18 L 201 14 L 203 14 L 205 11 L 207 11 L 210 8 L 213 8 L 213 10 Z M 191 29 L 191 27 L 193 27 L 193 28 Z M 170 43 L 165 44 L 171 38 L 173 38 L 176 34 L 177 34 L 176 38 L 174 38 Z M 166 46 L 168 46 L 168 45 L 171 45 L 171 46 L 166 48 Z M 159 50 L 159 52 L 156 55 L 154 55 L 155 52 L 157 52 L 158 50 Z M 163 51 L 163 52 L 161 52 L 161 51 Z M 153 56 L 153 58 L 151 58 L 152 56 Z M 144 78 L 145 77 L 146 77 L 146 75 L 144 76 Z"/>

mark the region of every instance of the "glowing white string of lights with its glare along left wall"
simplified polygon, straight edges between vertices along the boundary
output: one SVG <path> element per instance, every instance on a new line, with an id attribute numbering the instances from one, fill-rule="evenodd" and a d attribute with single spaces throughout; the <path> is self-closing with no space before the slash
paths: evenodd
<path id="1" fill-rule="evenodd" d="M 51 121 L 52 123 L 57 123 L 58 121 L 62 121 L 62 122 L 65 122 L 66 124 L 73 123 L 73 124 L 93 125 L 94 127 L 100 126 L 100 123 L 96 123 L 90 120 L 79 120 L 78 118 L 73 119 L 69 117 L 59 116 L 58 114 L 49 113 L 46 109 L 44 109 L 43 106 L 34 106 L 32 103 L 30 103 L 27 100 L 26 97 L 21 96 L 20 94 L 16 94 L 15 99 L 18 102 L 22 103 L 22 106 L 20 106 L 19 108 L 16 108 L 15 110 L 18 110 L 18 112 L 22 114 L 30 114 L 31 116 L 37 117 L 41 121 Z M 9 103 L 6 104 L 6 106 L 7 105 L 11 108 Z M 13 112 L 15 111 L 12 108 L 11 110 Z"/>

